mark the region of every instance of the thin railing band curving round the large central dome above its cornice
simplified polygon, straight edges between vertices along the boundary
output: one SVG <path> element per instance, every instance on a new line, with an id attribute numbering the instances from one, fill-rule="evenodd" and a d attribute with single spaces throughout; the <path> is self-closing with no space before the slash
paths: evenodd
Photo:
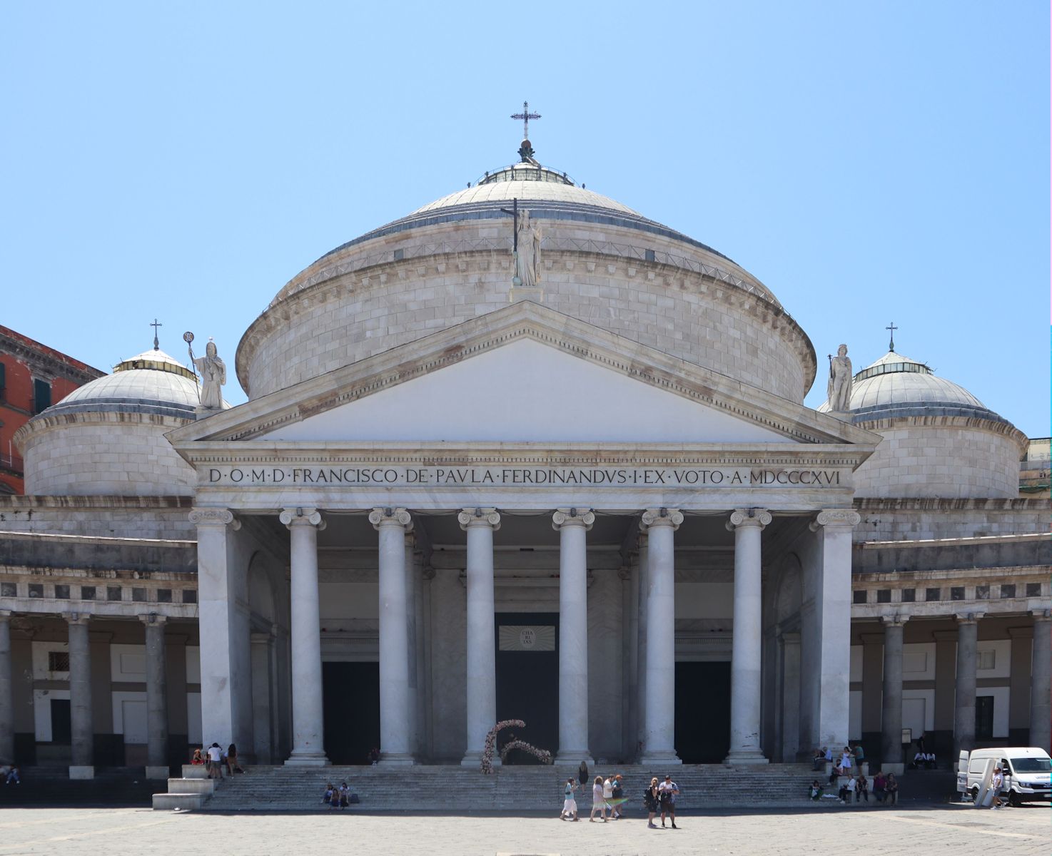
<path id="1" fill-rule="evenodd" d="M 486 250 L 498 250 L 510 253 L 511 239 L 465 238 L 460 241 L 434 241 L 425 244 L 416 244 L 408 247 L 387 249 L 383 252 L 372 253 L 371 256 L 363 256 L 361 258 L 352 259 L 348 262 L 332 265 L 319 270 L 317 273 L 308 277 L 300 283 L 296 290 L 283 295 L 281 300 L 285 300 L 292 294 L 303 291 L 305 288 L 309 288 L 310 286 L 331 279 L 332 277 L 340 277 L 345 273 L 356 273 L 377 265 L 402 262 L 410 259 L 421 259 L 428 256 L 445 256 L 458 252 L 482 252 Z M 719 282 L 724 282 L 728 285 L 734 286 L 735 288 L 741 288 L 742 290 L 748 291 L 750 294 L 770 303 L 772 306 L 777 307 L 782 311 L 785 311 L 782 304 L 778 303 L 766 289 L 760 288 L 753 283 L 747 282 L 740 277 L 735 277 L 733 273 L 716 267 L 715 265 L 705 264 L 704 262 L 700 262 L 696 259 L 691 259 L 686 256 L 675 256 L 671 252 L 665 252 L 663 250 L 636 247 L 631 244 L 618 244 L 612 241 L 592 241 L 589 239 L 578 238 L 544 238 L 541 241 L 541 250 L 557 252 L 560 250 L 594 252 L 599 256 L 611 256 L 618 259 L 634 259 L 640 262 L 656 262 L 658 264 L 669 265 L 671 267 L 677 267 L 682 270 L 690 270 L 694 273 L 701 273 L 703 277 L 709 277 Z M 278 302 L 279 300 L 275 300 L 270 306 L 274 306 Z"/>

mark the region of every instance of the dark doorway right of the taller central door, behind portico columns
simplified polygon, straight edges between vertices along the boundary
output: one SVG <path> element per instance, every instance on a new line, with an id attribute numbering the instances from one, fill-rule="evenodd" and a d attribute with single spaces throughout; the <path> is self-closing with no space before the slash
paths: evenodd
<path id="1" fill-rule="evenodd" d="M 675 664 L 675 753 L 720 763 L 730 750 L 730 664 Z"/>

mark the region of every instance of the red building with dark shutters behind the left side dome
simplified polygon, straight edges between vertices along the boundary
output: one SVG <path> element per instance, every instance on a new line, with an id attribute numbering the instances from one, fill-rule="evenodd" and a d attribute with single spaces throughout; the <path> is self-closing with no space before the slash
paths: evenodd
<path id="1" fill-rule="evenodd" d="M 22 458 L 12 442 L 33 416 L 104 371 L 0 326 L 0 493 L 22 493 Z"/>

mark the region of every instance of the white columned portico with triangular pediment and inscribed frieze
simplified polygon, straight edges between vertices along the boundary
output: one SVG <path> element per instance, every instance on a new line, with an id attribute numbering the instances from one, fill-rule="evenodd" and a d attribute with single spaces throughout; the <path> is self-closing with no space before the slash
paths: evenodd
<path id="1" fill-rule="evenodd" d="M 463 349 L 469 360 L 449 359 Z M 559 745 L 542 748 L 561 762 L 677 762 L 676 664 L 699 656 L 686 641 L 695 628 L 729 641 L 705 655 L 730 663 L 728 761 L 781 756 L 761 743 L 763 706 L 783 704 L 764 698 L 763 592 L 787 552 L 812 593 L 798 619 L 805 656 L 821 663 L 811 684 L 792 688 L 802 734 L 847 739 L 846 686 L 843 702 L 830 699 L 846 668 L 836 628 L 848 632 L 852 472 L 873 436 L 658 351 L 642 354 L 653 367 L 641 373 L 627 362 L 641 351 L 520 303 L 169 435 L 198 473 L 202 568 L 222 569 L 238 552 L 239 521 L 288 529 L 289 763 L 330 760 L 330 657 L 379 663 L 381 763 L 479 763 L 498 719 L 495 655 L 511 645 L 497 639 L 495 616 L 546 603 L 558 616 L 546 650 L 558 651 Z M 487 380 L 502 376 L 517 386 Z M 586 406 L 568 399 L 553 417 L 548 399 L 566 389 Z M 427 421 L 403 425 L 421 405 Z M 485 408 L 494 414 L 485 426 L 465 422 Z M 423 546 L 419 570 L 410 537 Z M 221 578 L 202 585 L 202 614 L 221 613 L 227 589 Z M 610 618 L 630 613 L 625 592 L 638 592 L 640 614 L 628 626 Z M 250 659 L 240 645 L 231 640 L 229 658 Z M 428 680 L 418 680 L 418 656 Z M 622 690 L 611 710 L 608 689 L 629 673 L 638 741 Z M 210 686 L 202 681 L 203 710 L 229 714 L 205 731 L 232 735 L 245 714 L 227 688 L 209 697 Z"/>

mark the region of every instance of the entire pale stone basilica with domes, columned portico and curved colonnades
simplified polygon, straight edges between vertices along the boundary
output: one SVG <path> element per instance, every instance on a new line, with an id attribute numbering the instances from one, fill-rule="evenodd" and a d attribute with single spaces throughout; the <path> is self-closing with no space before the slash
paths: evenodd
<path id="1" fill-rule="evenodd" d="M 1048 749 L 1026 437 L 850 356 L 524 143 L 281 288 L 246 404 L 155 347 L 20 429 L 0 760 L 478 765 L 508 718 L 574 766 Z"/>

